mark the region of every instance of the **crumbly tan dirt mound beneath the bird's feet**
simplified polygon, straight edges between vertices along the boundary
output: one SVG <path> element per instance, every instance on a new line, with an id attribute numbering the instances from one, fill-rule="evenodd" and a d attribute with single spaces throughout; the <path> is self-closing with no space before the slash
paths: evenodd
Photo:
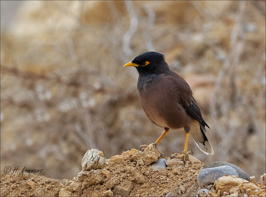
<path id="1" fill-rule="evenodd" d="M 101 155 L 101 151 L 90 154 Z M 99 159 L 85 158 L 88 155 L 83 158 L 78 177 L 60 191 L 60 196 L 195 196 L 199 187 L 197 174 L 205 166 L 200 162 L 184 165 L 179 159 L 165 158 L 166 169 L 153 170 L 150 164 L 161 158 L 154 144 L 143 152 L 131 149 L 98 165 L 97 160 L 103 155 Z"/>

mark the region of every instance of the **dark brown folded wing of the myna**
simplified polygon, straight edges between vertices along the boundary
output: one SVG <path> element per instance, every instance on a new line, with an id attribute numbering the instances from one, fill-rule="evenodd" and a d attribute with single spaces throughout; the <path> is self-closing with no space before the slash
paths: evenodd
<path id="1" fill-rule="evenodd" d="M 192 96 L 192 90 L 185 79 L 174 72 L 172 75 L 168 76 L 168 78 L 176 84 L 180 95 L 180 104 L 184 107 L 188 115 L 210 128 L 203 120 L 197 101 Z"/>

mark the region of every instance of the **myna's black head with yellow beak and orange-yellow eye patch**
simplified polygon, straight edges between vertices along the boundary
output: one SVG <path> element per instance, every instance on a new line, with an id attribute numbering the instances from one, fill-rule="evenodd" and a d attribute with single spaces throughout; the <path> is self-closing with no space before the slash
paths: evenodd
<path id="1" fill-rule="evenodd" d="M 124 66 L 134 66 L 140 75 L 162 74 L 169 71 L 169 66 L 164 60 L 164 55 L 149 51 L 135 57 L 132 62 Z"/>

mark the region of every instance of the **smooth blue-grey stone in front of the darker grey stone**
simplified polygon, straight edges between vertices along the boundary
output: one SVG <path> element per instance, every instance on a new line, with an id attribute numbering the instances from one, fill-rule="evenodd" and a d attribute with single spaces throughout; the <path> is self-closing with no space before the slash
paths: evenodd
<path id="1" fill-rule="evenodd" d="M 198 185 L 200 187 L 205 187 L 206 185 L 214 184 L 215 180 L 224 176 L 225 174 L 238 176 L 236 170 L 230 166 L 219 166 L 202 169 L 197 176 Z"/>

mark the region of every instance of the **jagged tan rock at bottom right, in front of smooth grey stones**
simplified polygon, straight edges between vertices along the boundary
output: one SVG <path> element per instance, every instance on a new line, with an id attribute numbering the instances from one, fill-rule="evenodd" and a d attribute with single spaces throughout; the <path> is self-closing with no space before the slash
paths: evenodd
<path id="1" fill-rule="evenodd" d="M 265 190 L 257 187 L 255 184 L 248 182 L 245 179 L 241 179 L 237 176 L 223 176 L 215 181 L 216 191 L 229 192 L 235 196 L 239 192 L 245 194 L 249 192 L 249 196 L 261 196 L 265 194 Z"/>

